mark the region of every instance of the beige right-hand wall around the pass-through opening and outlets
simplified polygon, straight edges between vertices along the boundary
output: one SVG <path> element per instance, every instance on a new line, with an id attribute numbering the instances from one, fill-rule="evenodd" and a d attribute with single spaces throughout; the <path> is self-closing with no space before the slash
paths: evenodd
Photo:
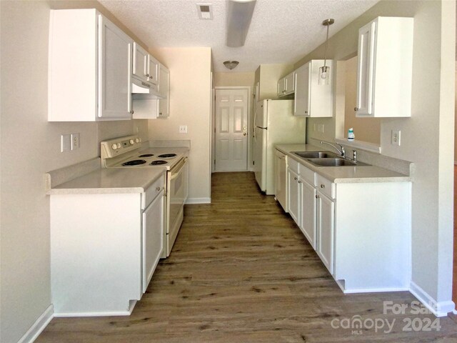
<path id="1" fill-rule="evenodd" d="M 377 16 L 414 18 L 412 115 L 383 119 L 381 149 L 386 156 L 413 161 L 413 283 L 440 304 L 451 300 L 453 242 L 453 127 L 455 1 L 380 1 L 328 42 L 328 56 L 341 60 L 357 51 L 358 29 Z M 323 45 L 296 63 L 323 56 Z M 325 124 L 315 139 L 333 140 L 335 118 L 311 119 Z M 401 130 L 393 146 L 391 130 Z"/>

